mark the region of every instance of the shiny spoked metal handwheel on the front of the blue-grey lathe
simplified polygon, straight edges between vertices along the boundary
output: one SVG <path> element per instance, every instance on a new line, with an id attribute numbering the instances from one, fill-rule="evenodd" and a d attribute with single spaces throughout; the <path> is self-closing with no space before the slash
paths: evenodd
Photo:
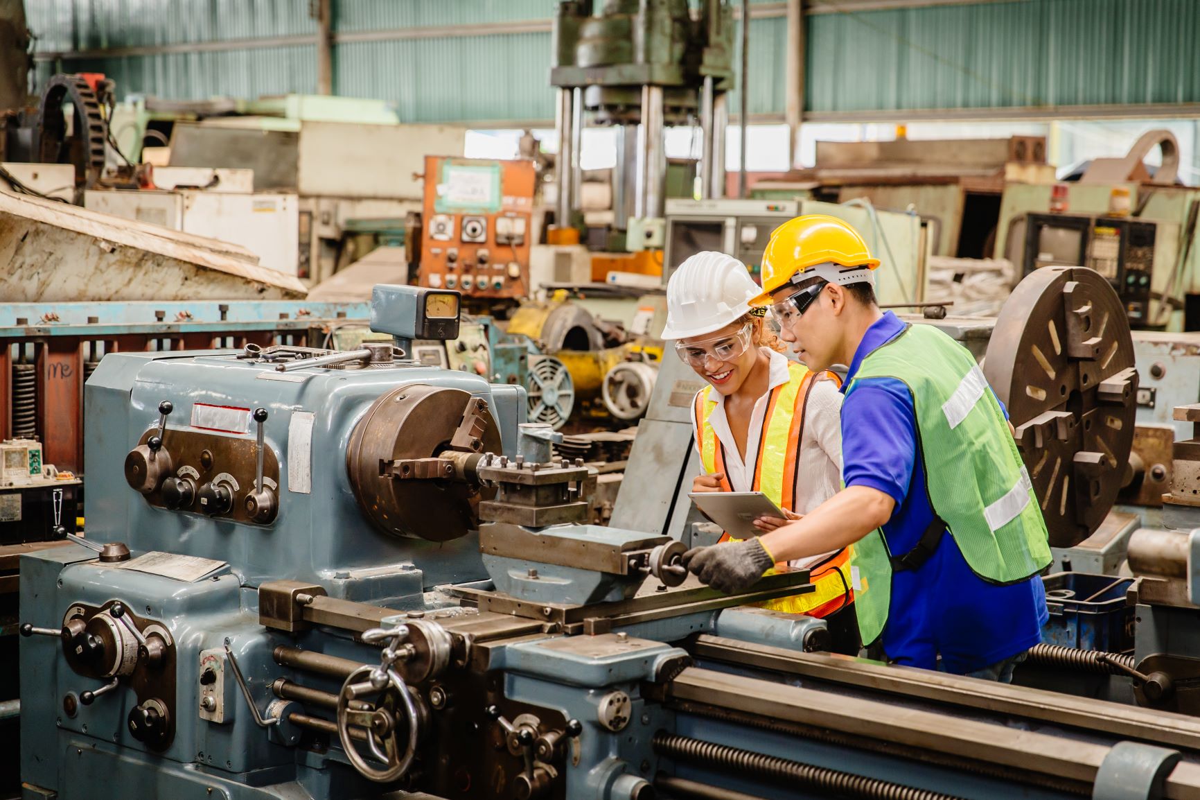
<path id="1" fill-rule="evenodd" d="M 373 639 L 394 638 L 392 646 L 384 651 L 383 664 L 379 667 L 359 667 L 342 683 L 337 693 L 337 738 L 350 764 L 364 777 L 377 783 L 391 783 L 408 771 L 416 754 L 416 742 L 420 734 L 416 704 L 408 691 L 404 679 L 392 668 L 396 661 L 396 644 L 407 635 L 408 629 L 401 626 L 392 631 L 368 631 L 378 635 Z M 364 639 L 366 639 L 364 634 Z M 355 709 L 350 704 L 364 697 L 378 694 L 380 702 L 373 709 Z M 396 738 L 396 718 L 392 710 L 383 703 L 390 697 L 397 697 L 408 721 L 408 741 L 403 753 Z M 372 766 L 356 747 L 353 730 L 362 733 L 362 739 L 371 752 L 371 758 L 383 763 L 383 769 Z"/>

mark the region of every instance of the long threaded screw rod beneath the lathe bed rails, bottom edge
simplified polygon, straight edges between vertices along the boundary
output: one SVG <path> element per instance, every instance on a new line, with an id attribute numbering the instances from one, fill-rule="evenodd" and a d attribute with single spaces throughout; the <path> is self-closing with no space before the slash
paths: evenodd
<path id="1" fill-rule="evenodd" d="M 858 800 L 956 800 L 941 792 L 914 789 L 901 783 L 870 778 L 853 772 L 802 764 L 749 750 L 718 745 L 665 730 L 654 735 L 654 752 L 680 763 L 703 764 L 730 770 L 743 777 L 770 781 L 791 792 L 803 789 Z"/>

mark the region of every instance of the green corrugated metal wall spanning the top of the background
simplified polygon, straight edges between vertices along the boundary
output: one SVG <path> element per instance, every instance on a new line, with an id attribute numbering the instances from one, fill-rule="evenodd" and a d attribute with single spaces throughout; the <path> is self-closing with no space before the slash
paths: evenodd
<path id="1" fill-rule="evenodd" d="M 862 0 L 844 0 L 850 8 Z M 335 31 L 548 22 L 554 0 L 335 0 Z M 805 108 L 812 119 L 1088 113 L 1200 107 L 1200 0 L 1008 0 L 806 18 Z M 750 113 L 782 119 L 780 4 L 750 23 Z M 109 73 L 120 92 L 168 98 L 311 92 L 308 0 L 26 0 L 40 53 Z M 533 28 L 538 28 L 534 24 Z M 310 38 L 305 38 L 310 37 Z M 259 40 L 253 49 L 178 52 Z M 269 41 L 276 40 L 276 41 Z M 146 48 L 168 52 L 145 53 Z M 106 55 L 103 50 L 132 49 Z M 40 62 L 38 77 L 53 68 Z M 335 92 L 396 103 L 412 121 L 550 120 L 550 34 L 522 30 L 346 41 Z M 738 98 L 731 98 L 731 109 Z M 1012 111 L 1006 111 L 1012 109 Z"/>

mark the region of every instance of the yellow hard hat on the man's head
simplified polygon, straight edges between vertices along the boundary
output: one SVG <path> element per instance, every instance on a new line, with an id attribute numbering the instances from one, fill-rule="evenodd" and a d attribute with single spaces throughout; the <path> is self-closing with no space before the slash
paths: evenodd
<path id="1" fill-rule="evenodd" d="M 875 269 L 880 259 L 871 256 L 866 241 L 845 220 L 826 214 L 797 216 L 770 234 L 762 253 L 762 294 L 755 298 L 755 305 L 769 303 L 772 292 L 822 264 Z M 862 280 L 853 276 L 853 282 Z"/>

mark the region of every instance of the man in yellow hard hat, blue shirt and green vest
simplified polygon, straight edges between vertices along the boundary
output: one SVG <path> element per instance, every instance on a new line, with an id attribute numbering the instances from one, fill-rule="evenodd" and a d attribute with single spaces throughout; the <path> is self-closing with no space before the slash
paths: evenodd
<path id="1" fill-rule="evenodd" d="M 736 592 L 776 561 L 854 544 L 854 608 L 872 655 L 1008 682 L 1048 619 L 1045 523 L 979 366 L 936 328 L 880 311 L 878 263 L 835 217 L 796 217 L 772 234 L 756 302 L 809 369 L 850 365 L 845 488 L 798 521 L 684 561 Z"/>

